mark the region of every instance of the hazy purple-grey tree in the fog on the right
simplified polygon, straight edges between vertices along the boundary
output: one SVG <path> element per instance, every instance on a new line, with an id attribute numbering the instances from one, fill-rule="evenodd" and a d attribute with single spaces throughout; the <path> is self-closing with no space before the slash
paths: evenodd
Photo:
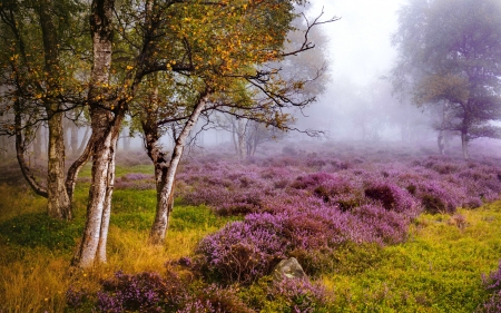
<path id="1" fill-rule="evenodd" d="M 445 101 L 441 129 L 461 135 L 464 158 L 471 139 L 499 138 L 491 121 L 501 119 L 501 3 L 413 0 L 399 23 L 395 89 L 420 106 Z"/>

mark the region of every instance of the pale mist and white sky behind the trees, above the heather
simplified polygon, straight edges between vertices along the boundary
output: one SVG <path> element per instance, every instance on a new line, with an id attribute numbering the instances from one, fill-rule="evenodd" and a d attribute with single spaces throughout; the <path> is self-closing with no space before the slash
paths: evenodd
<path id="1" fill-rule="evenodd" d="M 321 20 L 332 17 L 340 18 L 332 23 L 316 28 L 311 41 L 315 48 L 298 56 L 298 63 L 307 63 L 313 69 L 325 67 L 321 79 L 315 81 L 312 92 L 318 92 L 316 102 L 306 109 L 291 111 L 294 116 L 293 128 L 299 131 L 282 133 L 242 120 L 230 120 L 229 117 L 212 118 L 210 125 L 202 120 L 191 134 L 191 144 L 197 147 L 227 145 L 234 146 L 238 154 L 238 128 L 245 135 L 249 129 L 261 128 L 262 143 L 297 143 L 301 140 L 324 143 L 351 141 L 362 144 L 399 143 L 403 145 L 436 146 L 438 131 L 433 129 L 433 113 L 425 107 L 416 107 L 410 99 L 399 99 L 393 95 L 389 76 L 395 66 L 397 52 L 392 46 L 391 37 L 397 30 L 397 11 L 405 0 L 313 0 L 305 12 L 312 22 L 321 12 Z M 299 29 L 305 29 L 304 19 L 297 21 Z M 302 32 L 292 37 L 294 41 L 302 39 Z M 303 55 L 303 53 L 302 53 Z M 297 65 L 284 65 L 284 70 L 292 70 Z M 78 127 L 66 124 L 67 149 L 69 155 L 77 155 L 84 147 L 89 134 L 86 123 Z M 120 149 L 143 149 L 141 135 L 135 133 L 129 125 L 122 130 L 119 139 Z M 302 131 L 320 130 L 317 137 Z M 48 130 L 41 128 L 41 146 L 46 146 Z M 131 137 L 130 137 L 130 136 Z M 78 145 L 71 140 L 77 138 Z M 2 146 L 8 147 L 12 138 L 1 137 Z M 459 136 L 449 138 L 451 149 L 460 146 Z M 43 143 L 46 141 L 46 143 Z M 173 147 L 169 131 L 161 138 L 165 148 Z M 495 139 L 475 139 L 473 145 L 500 146 Z M 458 148 L 460 149 L 460 148 Z M 14 151 L 12 148 L 6 149 Z M 72 153 L 71 153 L 72 151 Z M 257 148 L 257 154 L 259 149 Z M 242 157 L 242 156 L 240 156 Z"/>

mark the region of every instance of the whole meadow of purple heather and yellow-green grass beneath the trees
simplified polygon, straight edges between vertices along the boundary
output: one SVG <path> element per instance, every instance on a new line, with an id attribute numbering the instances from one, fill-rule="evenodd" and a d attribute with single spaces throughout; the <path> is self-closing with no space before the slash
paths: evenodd
<path id="1" fill-rule="evenodd" d="M 161 247 L 153 166 L 121 155 L 109 260 L 88 271 L 69 263 L 89 167 L 66 223 L 4 166 L 0 312 L 501 312 L 500 157 L 306 146 L 186 158 Z M 274 282 L 291 256 L 310 280 Z"/>

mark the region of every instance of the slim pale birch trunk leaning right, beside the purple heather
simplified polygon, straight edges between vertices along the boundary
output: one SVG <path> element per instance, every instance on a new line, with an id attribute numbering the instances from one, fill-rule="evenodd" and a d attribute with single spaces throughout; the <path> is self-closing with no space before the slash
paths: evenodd
<path id="1" fill-rule="evenodd" d="M 207 102 L 207 95 L 208 91 L 205 91 L 202 97 L 199 98 L 197 105 L 195 106 L 191 115 L 189 116 L 188 120 L 186 121 L 181 133 L 176 138 L 176 144 L 174 146 L 173 156 L 170 157 L 170 162 L 168 166 L 155 166 L 155 175 L 160 174 L 160 172 L 157 172 L 161 169 L 161 182 L 157 182 L 157 212 L 155 215 L 155 222 L 151 226 L 151 232 L 149 235 L 149 241 L 151 244 L 164 244 L 169 218 L 170 218 L 170 212 L 173 209 L 173 198 L 174 198 L 174 184 L 175 184 L 175 176 L 177 172 L 177 167 L 179 165 L 179 160 L 183 156 L 183 150 L 186 144 L 186 139 L 188 138 L 191 129 L 194 128 L 195 124 L 197 123 L 200 113 L 204 110 L 206 102 Z M 149 150 L 149 149 L 148 149 Z M 165 165 L 165 163 L 164 163 Z M 158 194 L 158 190 L 160 189 L 160 194 Z"/>

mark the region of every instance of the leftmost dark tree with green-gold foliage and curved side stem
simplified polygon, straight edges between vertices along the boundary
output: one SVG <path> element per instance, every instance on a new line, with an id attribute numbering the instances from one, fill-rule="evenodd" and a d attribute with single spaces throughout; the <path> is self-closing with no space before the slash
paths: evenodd
<path id="1" fill-rule="evenodd" d="M 72 48 L 80 29 L 72 26 L 79 25 L 81 10 L 78 1 L 70 0 L 2 1 L 0 6 L 6 47 L 1 51 L 1 110 L 13 117 L 0 131 L 16 137 L 24 178 L 38 195 L 48 198 L 49 216 L 61 219 L 72 216 L 75 176 L 65 177 L 62 118 L 70 109 L 68 104 L 79 97 Z M 47 186 L 38 183 L 24 159 L 41 123 L 49 129 Z"/>

